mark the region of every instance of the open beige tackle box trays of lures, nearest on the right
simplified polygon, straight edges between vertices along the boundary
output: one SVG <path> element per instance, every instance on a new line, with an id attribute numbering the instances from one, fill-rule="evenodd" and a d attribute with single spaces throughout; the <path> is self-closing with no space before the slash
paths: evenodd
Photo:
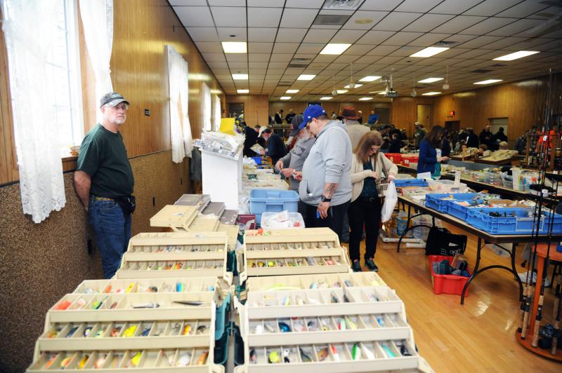
<path id="1" fill-rule="evenodd" d="M 362 285 L 373 280 L 362 275 L 324 276 L 342 278 L 285 277 L 288 284 L 332 284 L 306 290 L 264 290 L 271 282 L 249 279 L 246 304 L 235 299 L 245 361 L 237 372 L 417 371 L 412 329 L 395 292 Z"/>

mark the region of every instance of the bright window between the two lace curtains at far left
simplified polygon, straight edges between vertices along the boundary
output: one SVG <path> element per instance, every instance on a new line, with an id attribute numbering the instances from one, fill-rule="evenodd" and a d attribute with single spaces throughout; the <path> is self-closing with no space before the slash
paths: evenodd
<path id="1" fill-rule="evenodd" d="M 58 0 L 57 29 L 48 53 L 46 71 L 52 74 L 53 106 L 58 145 L 63 156 L 84 137 L 77 0 Z"/>

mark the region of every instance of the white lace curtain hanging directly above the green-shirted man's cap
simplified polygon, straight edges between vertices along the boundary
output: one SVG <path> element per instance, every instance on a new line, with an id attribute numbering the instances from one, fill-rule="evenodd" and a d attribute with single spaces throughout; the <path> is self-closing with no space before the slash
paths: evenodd
<path id="1" fill-rule="evenodd" d="M 113 0 L 80 0 L 86 48 L 96 76 L 96 120 L 102 122 L 98 100 L 112 92 L 111 50 L 113 48 Z"/>

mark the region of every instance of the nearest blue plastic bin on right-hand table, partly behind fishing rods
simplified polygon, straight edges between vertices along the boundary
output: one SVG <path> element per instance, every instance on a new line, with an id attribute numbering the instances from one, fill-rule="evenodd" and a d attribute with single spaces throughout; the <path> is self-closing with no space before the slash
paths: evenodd
<path id="1" fill-rule="evenodd" d="M 466 222 L 478 229 L 492 234 L 530 234 L 534 218 L 528 217 L 528 208 L 469 208 L 466 209 Z M 489 212 L 515 212 L 516 217 L 491 217 Z M 540 219 L 539 233 L 548 233 L 550 214 Z M 553 233 L 562 233 L 562 215 L 554 214 Z"/>

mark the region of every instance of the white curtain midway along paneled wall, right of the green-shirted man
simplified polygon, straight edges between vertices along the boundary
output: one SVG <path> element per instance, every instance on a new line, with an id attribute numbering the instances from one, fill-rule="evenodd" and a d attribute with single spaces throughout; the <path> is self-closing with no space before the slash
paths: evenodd
<path id="1" fill-rule="evenodd" d="M 181 163 L 191 156 L 192 139 L 188 116 L 188 62 L 173 46 L 166 46 L 168 60 L 171 160 Z"/>

